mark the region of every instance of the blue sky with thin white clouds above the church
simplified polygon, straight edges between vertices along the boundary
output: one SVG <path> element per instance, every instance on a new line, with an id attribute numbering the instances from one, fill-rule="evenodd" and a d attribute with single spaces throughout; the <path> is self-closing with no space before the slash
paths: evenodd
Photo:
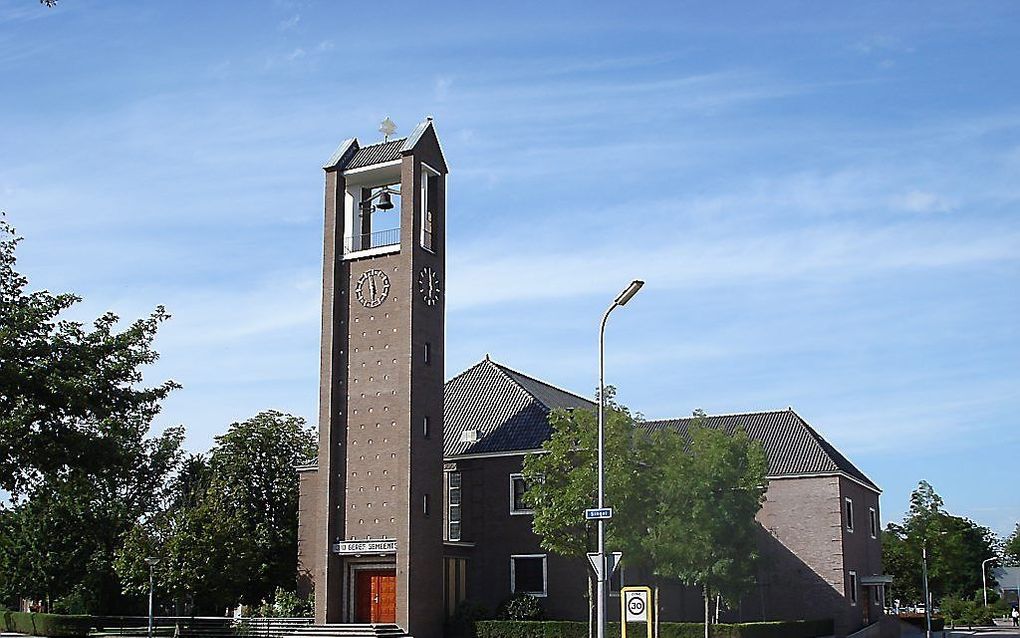
<path id="1" fill-rule="evenodd" d="M 793 405 L 1020 519 L 1020 5 L 0 0 L 0 208 L 81 318 L 165 304 L 159 426 L 314 421 L 322 173 L 436 117 L 447 376 L 648 418 Z"/>

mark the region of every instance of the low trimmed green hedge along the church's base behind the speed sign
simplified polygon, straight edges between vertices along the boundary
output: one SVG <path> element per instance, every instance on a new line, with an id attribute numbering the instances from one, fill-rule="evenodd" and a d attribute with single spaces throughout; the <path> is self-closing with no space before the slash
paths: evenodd
<path id="1" fill-rule="evenodd" d="M 477 638 L 588 638 L 588 623 L 576 621 L 478 621 L 474 624 Z M 627 635 L 642 638 L 646 633 L 642 623 L 627 624 Z M 606 632 L 620 635 L 620 624 L 609 623 Z M 738 623 L 712 626 L 714 638 L 815 638 L 831 636 L 832 621 L 781 621 L 773 623 Z M 702 623 L 660 623 L 659 638 L 702 638 Z"/>

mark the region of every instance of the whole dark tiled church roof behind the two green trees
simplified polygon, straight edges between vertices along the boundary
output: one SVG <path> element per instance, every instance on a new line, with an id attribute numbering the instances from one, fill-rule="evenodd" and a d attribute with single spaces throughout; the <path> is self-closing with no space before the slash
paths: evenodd
<path id="1" fill-rule="evenodd" d="M 487 356 L 446 383 L 444 454 L 499 453 L 533 450 L 552 435 L 549 412 L 557 408 L 595 409 L 595 402 L 492 361 Z M 650 431 L 671 429 L 686 435 L 693 416 L 642 424 Z M 872 489 L 878 486 L 823 439 L 793 408 L 708 415 L 706 425 L 733 432 L 744 428 L 761 441 L 768 476 L 788 477 L 844 473 Z M 461 435 L 477 430 L 478 440 Z"/>

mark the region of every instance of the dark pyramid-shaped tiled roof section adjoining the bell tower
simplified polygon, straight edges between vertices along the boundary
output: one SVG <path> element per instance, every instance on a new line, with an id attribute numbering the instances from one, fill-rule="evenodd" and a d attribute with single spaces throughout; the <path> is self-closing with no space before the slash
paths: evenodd
<path id="1" fill-rule="evenodd" d="M 595 403 L 500 365 L 488 356 L 446 383 L 443 452 L 447 456 L 533 450 L 552 436 L 549 412 Z M 476 441 L 462 440 L 470 430 Z"/>

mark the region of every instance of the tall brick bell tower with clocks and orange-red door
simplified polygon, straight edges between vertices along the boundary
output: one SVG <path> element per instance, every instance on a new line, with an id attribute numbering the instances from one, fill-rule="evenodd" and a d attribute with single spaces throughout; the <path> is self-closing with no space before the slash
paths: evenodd
<path id="1" fill-rule="evenodd" d="M 431 117 L 325 166 L 319 448 L 301 471 L 315 622 L 443 626 L 447 165 Z"/>

